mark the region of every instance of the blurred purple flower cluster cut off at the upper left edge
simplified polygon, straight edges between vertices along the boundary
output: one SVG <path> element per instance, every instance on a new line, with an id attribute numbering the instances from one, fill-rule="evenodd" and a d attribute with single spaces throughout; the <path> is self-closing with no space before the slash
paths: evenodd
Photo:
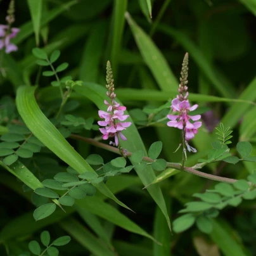
<path id="1" fill-rule="evenodd" d="M 8 33 L 8 28 L 8 25 L 0 25 L 0 50 L 5 48 L 6 53 L 11 53 L 17 51 L 18 47 L 10 39 L 16 37 L 20 29 L 11 28 L 11 32 Z"/>

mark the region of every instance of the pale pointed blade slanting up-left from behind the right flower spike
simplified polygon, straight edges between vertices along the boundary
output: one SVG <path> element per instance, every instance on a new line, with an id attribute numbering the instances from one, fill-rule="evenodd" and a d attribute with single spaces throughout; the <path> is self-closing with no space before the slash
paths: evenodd
<path id="1" fill-rule="evenodd" d="M 177 89 L 179 83 L 155 43 L 136 22 L 134 22 L 129 13 L 125 13 L 125 18 L 131 27 L 139 51 L 160 88 L 165 91 Z"/>

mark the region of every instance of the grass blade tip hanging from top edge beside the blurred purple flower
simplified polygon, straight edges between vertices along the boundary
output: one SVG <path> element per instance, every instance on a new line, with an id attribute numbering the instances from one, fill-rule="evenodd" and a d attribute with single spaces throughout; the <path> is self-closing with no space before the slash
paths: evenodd
<path id="1" fill-rule="evenodd" d="M 27 0 L 29 4 L 30 16 L 32 18 L 35 42 L 39 46 L 40 23 L 42 15 L 42 0 Z"/>

